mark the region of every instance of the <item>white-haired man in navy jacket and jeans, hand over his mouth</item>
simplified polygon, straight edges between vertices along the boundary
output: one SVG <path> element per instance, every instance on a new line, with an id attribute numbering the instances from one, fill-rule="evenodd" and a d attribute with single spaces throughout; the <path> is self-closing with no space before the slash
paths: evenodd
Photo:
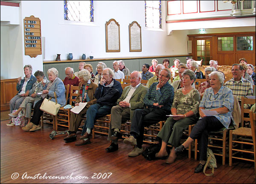
<path id="1" fill-rule="evenodd" d="M 91 105 L 86 112 L 86 121 L 82 130 L 82 136 L 76 141 L 76 146 L 90 144 L 90 132 L 93 129 L 94 122 L 105 115 L 111 113 L 111 108 L 116 105 L 117 99 L 122 94 L 122 86 L 117 80 L 114 80 L 114 72 L 110 68 L 103 70 L 103 77 L 94 94 L 97 103 Z"/>

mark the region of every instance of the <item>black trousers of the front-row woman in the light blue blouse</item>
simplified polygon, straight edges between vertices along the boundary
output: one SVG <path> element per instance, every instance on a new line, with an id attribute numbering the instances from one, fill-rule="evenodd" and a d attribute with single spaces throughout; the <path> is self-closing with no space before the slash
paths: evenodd
<path id="1" fill-rule="evenodd" d="M 215 116 L 206 116 L 195 124 L 189 137 L 198 139 L 199 160 L 207 161 L 208 132 L 221 128 L 224 128 L 224 125 Z"/>

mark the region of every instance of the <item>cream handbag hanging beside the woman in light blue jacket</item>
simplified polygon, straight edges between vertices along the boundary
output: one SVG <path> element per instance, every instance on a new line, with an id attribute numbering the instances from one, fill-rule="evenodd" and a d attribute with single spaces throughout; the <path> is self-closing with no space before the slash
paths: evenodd
<path id="1" fill-rule="evenodd" d="M 50 101 L 52 99 L 52 97 L 49 98 L 49 100 L 47 98 L 44 98 L 44 101 L 40 106 L 40 110 L 44 111 L 50 115 L 54 115 L 54 116 L 57 115 L 58 110 L 60 109 L 61 105 L 58 104 L 58 102 L 57 102 L 57 97 L 56 97 L 55 92 L 54 92 L 54 97 L 55 97 L 56 102 Z"/>

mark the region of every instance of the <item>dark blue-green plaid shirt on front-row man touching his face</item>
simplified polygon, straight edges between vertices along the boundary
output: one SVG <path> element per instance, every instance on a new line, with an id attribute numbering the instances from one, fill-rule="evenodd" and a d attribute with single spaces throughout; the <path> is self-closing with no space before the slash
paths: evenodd
<path id="1" fill-rule="evenodd" d="M 159 105 L 163 105 L 161 109 L 171 110 L 173 97 L 174 97 L 174 89 L 171 84 L 166 83 L 160 90 L 157 90 L 157 84 L 159 82 L 153 83 L 148 92 L 146 93 L 143 102 L 149 108 L 158 108 L 153 106 L 153 103 L 158 103 Z"/>

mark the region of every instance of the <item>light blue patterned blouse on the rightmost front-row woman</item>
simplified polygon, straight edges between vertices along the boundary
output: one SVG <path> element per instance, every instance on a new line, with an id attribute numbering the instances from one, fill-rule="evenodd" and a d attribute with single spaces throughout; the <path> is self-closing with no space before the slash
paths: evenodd
<path id="1" fill-rule="evenodd" d="M 218 93 L 214 95 L 212 88 L 207 88 L 204 92 L 204 96 L 200 102 L 199 107 L 204 107 L 206 110 L 217 109 L 220 107 L 227 107 L 229 112 L 224 114 L 214 115 L 226 128 L 230 124 L 230 118 L 232 116 L 234 97 L 232 91 L 225 86 L 221 86 Z"/>

